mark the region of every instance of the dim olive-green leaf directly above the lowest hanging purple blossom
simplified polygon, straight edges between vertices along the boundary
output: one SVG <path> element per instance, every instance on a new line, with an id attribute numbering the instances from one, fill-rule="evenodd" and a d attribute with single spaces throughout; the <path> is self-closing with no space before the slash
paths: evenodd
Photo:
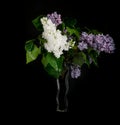
<path id="1" fill-rule="evenodd" d="M 77 53 L 74 58 L 73 58 L 73 63 L 79 65 L 80 67 L 86 63 L 87 61 L 87 57 L 86 54 L 84 52 L 79 52 Z"/>

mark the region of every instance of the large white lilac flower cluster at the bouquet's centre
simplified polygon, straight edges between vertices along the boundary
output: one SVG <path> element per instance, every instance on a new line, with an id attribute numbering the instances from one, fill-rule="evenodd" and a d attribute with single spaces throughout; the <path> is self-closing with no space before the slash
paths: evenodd
<path id="1" fill-rule="evenodd" d="M 67 36 L 62 35 L 56 25 L 47 17 L 41 18 L 44 32 L 42 37 L 47 40 L 44 47 L 48 52 L 53 52 L 55 57 L 59 58 L 63 54 L 63 50 L 68 51 L 70 43 L 67 42 Z"/>

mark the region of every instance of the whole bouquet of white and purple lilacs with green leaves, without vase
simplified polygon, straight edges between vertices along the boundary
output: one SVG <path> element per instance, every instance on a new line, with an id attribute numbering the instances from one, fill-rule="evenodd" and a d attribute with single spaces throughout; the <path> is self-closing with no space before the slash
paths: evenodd
<path id="1" fill-rule="evenodd" d="M 113 53 L 115 50 L 109 34 L 90 29 L 83 31 L 75 19 L 62 19 L 57 12 L 38 16 L 32 22 L 39 35 L 25 43 L 26 63 L 41 55 L 45 70 L 54 78 L 63 76 L 68 67 L 71 77 L 78 78 L 83 64 L 97 65 L 101 52 Z"/>

